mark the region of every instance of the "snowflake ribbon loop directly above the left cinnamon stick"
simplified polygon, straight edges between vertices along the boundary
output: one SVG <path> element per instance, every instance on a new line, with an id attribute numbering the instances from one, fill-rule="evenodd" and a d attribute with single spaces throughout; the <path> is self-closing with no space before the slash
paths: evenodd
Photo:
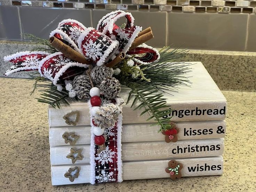
<path id="1" fill-rule="evenodd" d="M 78 48 L 77 40 L 81 33 L 87 28 L 74 19 L 65 19 L 58 24 L 57 29 L 50 33 L 50 37 L 56 37 L 66 45 L 81 53 Z"/>

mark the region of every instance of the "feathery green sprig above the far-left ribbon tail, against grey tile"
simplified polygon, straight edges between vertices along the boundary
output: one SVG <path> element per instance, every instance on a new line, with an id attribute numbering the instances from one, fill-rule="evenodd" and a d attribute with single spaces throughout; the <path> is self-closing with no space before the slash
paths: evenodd
<path id="1" fill-rule="evenodd" d="M 42 45 L 35 47 L 30 51 L 46 51 L 48 53 L 58 52 L 58 50 L 50 44 L 50 41 L 48 39 L 41 39 L 30 33 L 23 33 L 23 37 L 24 39 L 31 40 L 32 42 L 35 42 L 38 45 Z"/>

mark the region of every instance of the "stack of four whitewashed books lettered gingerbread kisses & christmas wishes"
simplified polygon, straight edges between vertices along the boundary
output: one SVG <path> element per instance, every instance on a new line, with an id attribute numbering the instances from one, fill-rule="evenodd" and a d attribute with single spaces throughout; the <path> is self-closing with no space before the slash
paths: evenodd
<path id="1" fill-rule="evenodd" d="M 165 141 L 158 133 L 158 126 L 146 121 L 149 114 L 130 108 L 132 102 L 123 104 L 122 162 L 123 180 L 170 177 L 165 172 L 170 160 L 182 163 L 182 177 L 221 175 L 223 173 L 224 136 L 226 133 L 226 99 L 210 77 L 197 62 L 191 65 L 190 86 L 181 86 L 172 95 L 166 94 L 167 104 L 174 109 L 165 118 L 176 123 L 177 142 Z M 128 92 L 120 96 L 126 101 Z M 49 107 L 49 141 L 51 177 L 53 185 L 90 182 L 90 114 L 86 102 L 71 102 L 61 109 Z M 79 112 L 75 126 L 67 125 L 63 116 Z M 72 118 L 72 117 L 70 117 Z M 74 117 L 75 118 L 75 117 Z M 64 133 L 79 136 L 74 146 L 65 143 Z M 66 158 L 71 147 L 82 149 L 82 160 L 74 164 Z M 79 177 L 73 182 L 64 177 L 69 168 L 80 167 Z"/>

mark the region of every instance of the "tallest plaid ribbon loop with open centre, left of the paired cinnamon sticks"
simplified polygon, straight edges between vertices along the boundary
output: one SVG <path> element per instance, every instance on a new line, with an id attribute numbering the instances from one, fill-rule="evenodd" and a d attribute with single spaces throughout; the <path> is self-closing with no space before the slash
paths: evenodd
<path id="1" fill-rule="evenodd" d="M 121 17 L 126 17 L 126 26 L 124 29 L 115 24 Z M 97 30 L 119 42 L 119 47 L 115 54 L 118 55 L 120 52 L 126 53 L 129 50 L 134 39 L 142 30 L 141 26 L 133 26 L 133 24 L 134 18 L 130 13 L 117 10 L 102 17 L 97 25 Z"/>

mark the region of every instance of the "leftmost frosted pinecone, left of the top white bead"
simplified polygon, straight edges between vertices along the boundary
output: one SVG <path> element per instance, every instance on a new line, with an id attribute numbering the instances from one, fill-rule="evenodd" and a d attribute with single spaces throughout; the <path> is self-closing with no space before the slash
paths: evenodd
<path id="1" fill-rule="evenodd" d="M 88 100 L 90 98 L 91 83 L 88 75 L 75 76 L 72 87 L 79 99 Z"/>

